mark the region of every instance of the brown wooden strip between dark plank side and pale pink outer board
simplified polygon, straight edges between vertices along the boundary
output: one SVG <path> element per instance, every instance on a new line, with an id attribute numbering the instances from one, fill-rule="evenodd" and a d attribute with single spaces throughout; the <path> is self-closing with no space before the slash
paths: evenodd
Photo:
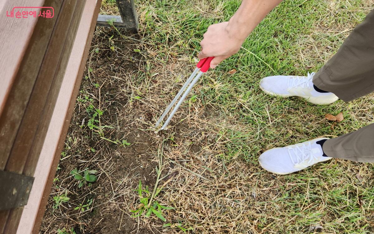
<path id="1" fill-rule="evenodd" d="M 33 175 L 70 57 L 85 0 L 65 0 L 31 93 L 6 170 Z M 40 111 L 42 108 L 42 111 Z M 40 115 L 38 115 L 41 113 Z M 32 125 L 32 127 L 30 127 Z M 25 136 L 27 136 L 25 138 Z M 30 152 L 28 153 L 28 150 Z M 27 154 L 28 153 L 28 154 Z M 27 157 L 25 157 L 26 155 Z M 26 160 L 20 161 L 20 156 Z M 15 233 L 22 208 L 9 213 L 4 233 Z"/>

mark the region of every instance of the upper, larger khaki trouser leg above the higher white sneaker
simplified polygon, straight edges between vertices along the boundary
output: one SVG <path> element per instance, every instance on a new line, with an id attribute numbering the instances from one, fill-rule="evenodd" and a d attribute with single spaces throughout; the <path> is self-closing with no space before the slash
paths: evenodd
<path id="1" fill-rule="evenodd" d="M 374 10 L 314 75 L 313 83 L 346 102 L 374 91 Z"/>

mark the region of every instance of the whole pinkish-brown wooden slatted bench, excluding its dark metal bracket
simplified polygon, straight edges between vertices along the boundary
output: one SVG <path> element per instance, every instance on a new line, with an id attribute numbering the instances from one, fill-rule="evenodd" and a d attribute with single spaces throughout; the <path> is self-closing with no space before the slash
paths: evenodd
<path id="1" fill-rule="evenodd" d="M 100 4 L 101 0 L 0 1 L 0 170 L 25 176 L 36 172 L 38 177 L 28 200 L 30 209 L 0 211 L 0 233 L 16 233 L 19 226 L 19 233 L 39 233 Z M 53 7 L 53 16 L 12 18 L 7 15 L 13 7 Z M 42 161 L 46 164 L 36 171 Z"/>

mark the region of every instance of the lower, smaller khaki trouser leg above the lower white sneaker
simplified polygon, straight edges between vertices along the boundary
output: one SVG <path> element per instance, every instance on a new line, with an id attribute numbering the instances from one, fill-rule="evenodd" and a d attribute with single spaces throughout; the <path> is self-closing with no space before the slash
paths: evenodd
<path id="1" fill-rule="evenodd" d="M 332 158 L 374 162 L 374 124 L 325 141 L 324 153 Z"/>

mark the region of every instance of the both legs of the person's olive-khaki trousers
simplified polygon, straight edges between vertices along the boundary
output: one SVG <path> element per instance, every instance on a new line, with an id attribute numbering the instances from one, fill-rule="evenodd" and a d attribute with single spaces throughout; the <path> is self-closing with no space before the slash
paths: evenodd
<path id="1" fill-rule="evenodd" d="M 374 10 L 316 73 L 313 83 L 346 102 L 374 91 Z M 323 150 L 333 158 L 374 162 L 374 124 L 327 140 Z"/>

